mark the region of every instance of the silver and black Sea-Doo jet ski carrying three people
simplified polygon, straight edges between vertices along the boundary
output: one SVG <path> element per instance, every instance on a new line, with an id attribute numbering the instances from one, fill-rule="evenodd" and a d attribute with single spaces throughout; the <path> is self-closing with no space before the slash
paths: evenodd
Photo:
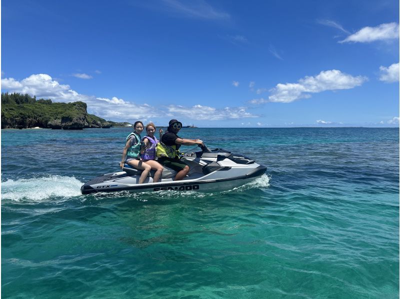
<path id="1" fill-rule="evenodd" d="M 142 170 L 124 164 L 122 171 L 105 173 L 82 185 L 82 194 L 94 192 L 147 192 L 147 191 L 222 191 L 243 185 L 265 171 L 264 165 L 242 154 L 222 148 L 209 150 L 205 145 L 201 151 L 186 152 L 181 161 L 190 170 L 182 180 L 173 180 L 176 171 L 165 167 L 158 182 L 153 182 L 151 170 L 143 183 L 139 184 Z"/>

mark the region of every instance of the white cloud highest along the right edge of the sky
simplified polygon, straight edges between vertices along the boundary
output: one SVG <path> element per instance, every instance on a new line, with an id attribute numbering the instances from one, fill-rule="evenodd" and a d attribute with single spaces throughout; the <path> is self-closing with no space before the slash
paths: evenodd
<path id="1" fill-rule="evenodd" d="M 398 23 L 392 22 L 380 24 L 376 27 L 363 27 L 339 42 L 371 42 L 395 38 L 398 38 Z"/>

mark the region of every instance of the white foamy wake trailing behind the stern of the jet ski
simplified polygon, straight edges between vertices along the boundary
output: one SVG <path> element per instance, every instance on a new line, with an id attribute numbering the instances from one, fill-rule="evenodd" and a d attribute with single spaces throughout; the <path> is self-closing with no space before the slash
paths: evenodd
<path id="1" fill-rule="evenodd" d="M 8 179 L 1 183 L 1 199 L 41 201 L 51 197 L 78 196 L 82 184 L 73 176 L 61 175 Z"/>

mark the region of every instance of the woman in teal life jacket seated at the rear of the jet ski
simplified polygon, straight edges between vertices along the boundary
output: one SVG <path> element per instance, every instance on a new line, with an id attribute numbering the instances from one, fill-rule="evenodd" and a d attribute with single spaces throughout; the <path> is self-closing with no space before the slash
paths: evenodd
<path id="1" fill-rule="evenodd" d="M 143 131 L 143 123 L 141 121 L 136 121 L 133 124 L 133 129 L 133 132 L 126 137 L 126 143 L 122 151 L 122 159 L 119 166 L 122 168 L 123 164 L 126 163 L 136 169 L 143 170 L 139 177 L 139 184 L 141 184 L 147 177 L 148 172 L 150 172 L 151 166 L 140 160 L 140 133 Z"/>

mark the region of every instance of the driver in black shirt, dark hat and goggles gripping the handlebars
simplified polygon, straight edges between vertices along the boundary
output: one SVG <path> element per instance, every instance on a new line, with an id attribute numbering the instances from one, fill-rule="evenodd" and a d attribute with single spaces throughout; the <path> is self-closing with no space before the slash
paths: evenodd
<path id="1" fill-rule="evenodd" d="M 178 149 L 180 145 L 203 145 L 200 139 L 180 138 L 177 133 L 182 123 L 176 119 L 169 120 L 167 131 L 162 135 L 161 142 L 157 145 L 157 161 L 164 166 L 177 171 L 174 180 L 181 180 L 189 172 L 190 168 L 179 159 Z"/>

